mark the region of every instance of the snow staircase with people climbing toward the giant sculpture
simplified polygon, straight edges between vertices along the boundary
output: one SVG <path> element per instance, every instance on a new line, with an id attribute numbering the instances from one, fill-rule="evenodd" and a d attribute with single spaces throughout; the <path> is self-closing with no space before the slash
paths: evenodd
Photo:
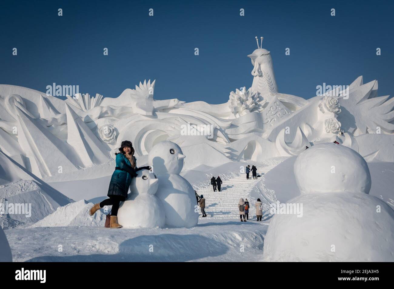
<path id="1" fill-rule="evenodd" d="M 252 172 L 249 174 L 250 180 L 246 179 L 246 173 L 232 179 L 222 180 L 223 184 L 221 185 L 220 191 L 216 190 L 214 192 L 211 184 L 208 187 L 198 190 L 197 193 L 200 196 L 203 195 L 205 199 L 206 215 L 217 219 L 239 218 L 238 202 L 240 198 L 245 199 L 245 193 L 253 188 L 256 182 L 260 181 L 265 173 L 273 168 L 275 166 L 258 168 L 257 175 L 261 177 L 255 180 L 253 179 Z M 251 218 L 255 215 L 255 208 L 251 208 L 249 212 L 249 218 Z M 201 210 L 199 214 L 201 216 Z"/>

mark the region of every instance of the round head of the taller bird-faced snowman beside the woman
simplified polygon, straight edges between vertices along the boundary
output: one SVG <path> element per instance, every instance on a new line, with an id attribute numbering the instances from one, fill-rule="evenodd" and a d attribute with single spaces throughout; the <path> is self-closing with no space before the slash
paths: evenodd
<path id="1" fill-rule="evenodd" d="M 182 171 L 185 157 L 179 145 L 165 140 L 152 147 L 149 152 L 148 163 L 158 175 L 179 174 Z"/>

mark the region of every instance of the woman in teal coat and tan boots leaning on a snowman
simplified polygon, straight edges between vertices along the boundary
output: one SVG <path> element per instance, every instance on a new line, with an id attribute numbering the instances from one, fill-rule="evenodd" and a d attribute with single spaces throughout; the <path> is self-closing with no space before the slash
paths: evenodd
<path id="1" fill-rule="evenodd" d="M 112 174 L 110 186 L 108 188 L 108 197 L 100 203 L 95 204 L 89 214 L 93 215 L 97 210 L 104 206 L 111 206 L 111 222 L 110 228 L 121 228 L 118 224 L 117 213 L 120 202 L 124 202 L 127 198 L 128 189 L 132 178 L 137 176 L 137 171 L 141 169 L 151 169 L 150 166 L 137 168 L 137 159 L 134 156 L 133 145 L 130 141 L 125 140 L 119 148 L 120 153 L 116 153 L 116 168 Z"/>

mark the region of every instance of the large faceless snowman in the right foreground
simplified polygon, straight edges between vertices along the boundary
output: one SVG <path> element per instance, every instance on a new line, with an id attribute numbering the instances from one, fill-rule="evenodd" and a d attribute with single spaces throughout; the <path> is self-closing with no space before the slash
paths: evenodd
<path id="1" fill-rule="evenodd" d="M 353 149 L 326 143 L 294 163 L 301 217 L 275 214 L 264 239 L 264 261 L 394 261 L 394 211 L 368 195 L 368 165 Z"/>

